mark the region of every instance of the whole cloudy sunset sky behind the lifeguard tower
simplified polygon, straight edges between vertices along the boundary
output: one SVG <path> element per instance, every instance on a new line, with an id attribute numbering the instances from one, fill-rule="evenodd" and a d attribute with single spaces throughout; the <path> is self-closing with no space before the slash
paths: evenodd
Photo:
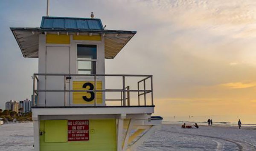
<path id="1" fill-rule="evenodd" d="M 39 27 L 47 0 L 0 1 L 0 108 L 32 94 L 38 59 L 9 27 Z M 106 74 L 152 74 L 163 116 L 256 115 L 255 0 L 50 0 L 50 16 L 90 17 L 137 31 Z"/>

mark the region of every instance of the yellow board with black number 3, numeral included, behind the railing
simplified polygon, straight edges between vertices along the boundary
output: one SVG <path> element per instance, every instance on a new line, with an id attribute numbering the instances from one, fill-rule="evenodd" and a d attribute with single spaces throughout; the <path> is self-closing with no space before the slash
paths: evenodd
<path id="1" fill-rule="evenodd" d="M 94 81 L 73 81 L 73 90 L 94 90 Z M 102 90 L 102 82 L 97 81 L 97 90 Z M 102 104 L 102 92 L 73 92 L 73 104 L 94 104 L 95 95 L 97 104 Z"/>

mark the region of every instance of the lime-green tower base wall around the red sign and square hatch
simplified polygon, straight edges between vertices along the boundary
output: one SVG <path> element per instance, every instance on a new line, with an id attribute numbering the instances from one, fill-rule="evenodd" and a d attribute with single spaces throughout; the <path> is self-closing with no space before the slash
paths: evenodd
<path id="1" fill-rule="evenodd" d="M 40 121 L 40 131 L 45 131 L 45 125 L 49 120 Z M 52 125 L 58 131 L 60 126 L 67 123 Z M 40 135 L 40 151 L 116 151 L 116 120 L 115 119 L 89 119 L 89 141 L 46 142 Z M 63 132 L 68 134 L 67 131 Z M 61 134 L 58 134 L 61 136 Z"/>

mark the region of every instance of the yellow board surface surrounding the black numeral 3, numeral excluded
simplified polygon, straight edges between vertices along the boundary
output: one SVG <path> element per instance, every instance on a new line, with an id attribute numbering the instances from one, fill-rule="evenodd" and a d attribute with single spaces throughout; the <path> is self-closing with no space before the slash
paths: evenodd
<path id="1" fill-rule="evenodd" d="M 73 81 L 73 90 L 89 90 L 89 86 L 83 88 L 84 83 L 92 83 L 95 87 L 94 81 Z M 97 90 L 102 90 L 102 82 L 97 81 Z M 94 93 L 94 92 L 92 92 Z M 102 92 L 96 92 L 97 104 L 102 104 Z M 83 99 L 86 96 L 87 98 L 91 97 L 89 92 L 73 92 L 73 104 L 94 104 L 95 99 L 90 102 L 87 102 Z"/>

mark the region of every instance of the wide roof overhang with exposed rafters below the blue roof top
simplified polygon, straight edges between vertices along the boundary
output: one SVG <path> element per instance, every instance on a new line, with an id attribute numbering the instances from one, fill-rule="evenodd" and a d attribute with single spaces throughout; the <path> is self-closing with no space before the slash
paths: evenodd
<path id="1" fill-rule="evenodd" d="M 38 57 L 39 34 L 101 35 L 105 37 L 105 58 L 113 59 L 136 34 L 120 30 L 72 30 L 43 28 L 11 28 L 23 57 Z"/>

